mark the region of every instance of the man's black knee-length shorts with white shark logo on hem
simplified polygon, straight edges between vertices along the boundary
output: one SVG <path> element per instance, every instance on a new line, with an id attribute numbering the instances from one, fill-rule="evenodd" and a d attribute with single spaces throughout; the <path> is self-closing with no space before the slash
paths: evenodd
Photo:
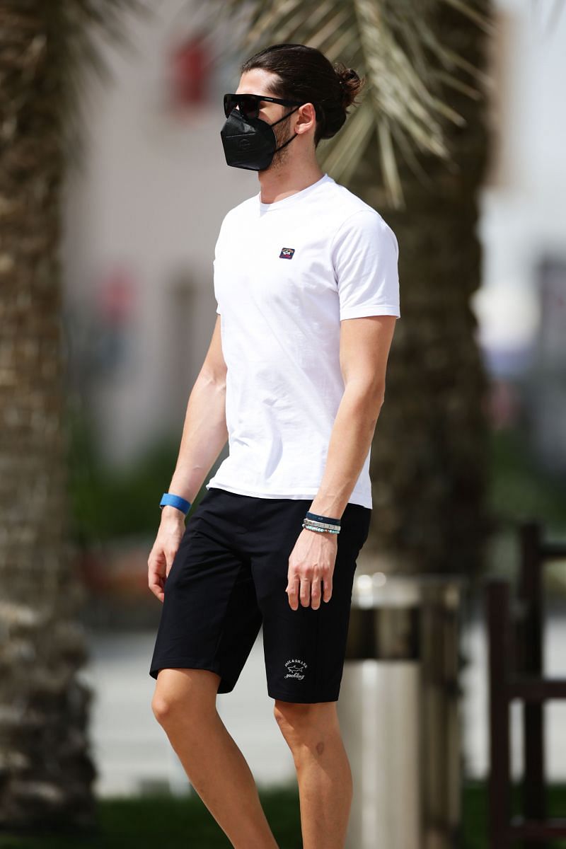
<path id="1" fill-rule="evenodd" d="M 356 557 L 372 510 L 346 505 L 330 600 L 321 597 L 315 610 L 299 599 L 293 610 L 286 592 L 289 556 L 311 503 L 207 490 L 188 517 L 165 580 L 152 678 L 164 666 L 209 669 L 221 676 L 217 692 L 228 693 L 263 626 L 273 699 L 338 700 Z"/>

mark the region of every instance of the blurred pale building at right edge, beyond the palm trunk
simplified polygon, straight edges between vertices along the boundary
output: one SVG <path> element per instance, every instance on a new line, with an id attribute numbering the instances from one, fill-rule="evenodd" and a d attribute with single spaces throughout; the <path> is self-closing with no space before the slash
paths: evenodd
<path id="1" fill-rule="evenodd" d="M 495 128 L 479 228 L 479 342 L 502 424 L 538 463 L 566 472 L 566 8 L 496 0 Z M 497 415 L 496 415 L 497 419 Z M 497 420 L 494 424 L 497 426 Z"/>

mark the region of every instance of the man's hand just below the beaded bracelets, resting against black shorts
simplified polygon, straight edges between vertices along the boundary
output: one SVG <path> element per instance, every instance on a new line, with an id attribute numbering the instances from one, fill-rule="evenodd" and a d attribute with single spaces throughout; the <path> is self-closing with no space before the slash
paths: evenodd
<path id="1" fill-rule="evenodd" d="M 322 600 L 330 601 L 338 551 L 337 537 L 338 534 L 319 533 L 307 528 L 300 532 L 289 557 L 285 590 L 292 610 L 299 609 L 299 599 L 303 607 L 309 607 L 312 600 L 313 610 L 318 610 L 321 604 L 321 581 Z"/>

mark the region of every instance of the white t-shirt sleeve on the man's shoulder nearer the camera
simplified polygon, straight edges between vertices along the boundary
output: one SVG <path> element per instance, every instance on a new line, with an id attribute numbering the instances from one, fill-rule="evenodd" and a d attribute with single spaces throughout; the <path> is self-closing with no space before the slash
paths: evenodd
<path id="1" fill-rule="evenodd" d="M 395 233 L 377 211 L 360 210 L 346 218 L 332 243 L 340 320 L 401 318 L 398 259 Z"/>

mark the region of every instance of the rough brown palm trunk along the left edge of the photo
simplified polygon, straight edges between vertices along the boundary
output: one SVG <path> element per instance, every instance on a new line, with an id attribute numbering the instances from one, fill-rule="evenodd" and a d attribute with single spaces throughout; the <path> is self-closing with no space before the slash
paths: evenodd
<path id="1" fill-rule="evenodd" d="M 59 3 L 0 0 L 0 827 L 93 818 L 67 526 Z"/>

